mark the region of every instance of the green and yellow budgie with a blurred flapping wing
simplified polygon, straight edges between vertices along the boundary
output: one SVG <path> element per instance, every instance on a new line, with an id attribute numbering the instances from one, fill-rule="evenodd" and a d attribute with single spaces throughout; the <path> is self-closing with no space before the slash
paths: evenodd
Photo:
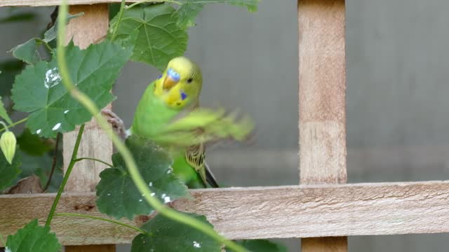
<path id="1" fill-rule="evenodd" d="M 172 155 L 173 172 L 189 188 L 218 187 L 205 160 L 207 141 L 243 140 L 253 130 L 249 118 L 238 120 L 237 113 L 199 109 L 203 84 L 201 70 L 187 57 L 176 57 L 150 83 L 135 111 L 133 125 L 125 131 L 123 121 L 112 111 L 103 110 L 121 134 L 152 139 Z"/>

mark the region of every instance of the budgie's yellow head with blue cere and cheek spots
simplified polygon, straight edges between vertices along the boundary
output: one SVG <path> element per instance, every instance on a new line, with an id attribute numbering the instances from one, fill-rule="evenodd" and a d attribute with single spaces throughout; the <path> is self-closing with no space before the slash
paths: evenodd
<path id="1" fill-rule="evenodd" d="M 173 109 L 196 103 L 201 92 L 201 70 L 187 57 L 175 57 L 154 83 L 154 95 Z"/>

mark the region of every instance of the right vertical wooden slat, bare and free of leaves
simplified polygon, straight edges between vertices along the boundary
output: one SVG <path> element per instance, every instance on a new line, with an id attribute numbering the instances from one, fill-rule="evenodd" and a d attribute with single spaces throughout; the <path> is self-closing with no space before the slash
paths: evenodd
<path id="1" fill-rule="evenodd" d="M 344 0 L 298 0 L 300 183 L 346 183 Z M 303 252 L 347 251 L 347 237 L 301 240 Z"/>

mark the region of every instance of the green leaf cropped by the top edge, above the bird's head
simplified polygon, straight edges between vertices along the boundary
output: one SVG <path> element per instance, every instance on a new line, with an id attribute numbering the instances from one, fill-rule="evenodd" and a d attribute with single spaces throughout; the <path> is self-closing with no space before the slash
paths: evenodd
<path id="1" fill-rule="evenodd" d="M 179 15 L 177 25 L 186 28 L 195 25 L 196 16 L 199 14 L 204 4 L 207 3 L 229 3 L 235 6 L 244 6 L 250 12 L 257 11 L 257 3 L 260 0 L 182 0 L 182 5 L 177 9 Z"/>

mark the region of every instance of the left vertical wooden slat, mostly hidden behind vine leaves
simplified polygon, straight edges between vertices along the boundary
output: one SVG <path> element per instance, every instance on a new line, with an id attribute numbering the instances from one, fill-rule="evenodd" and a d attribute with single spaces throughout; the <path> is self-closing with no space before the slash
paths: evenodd
<path id="1" fill-rule="evenodd" d="M 72 38 L 75 45 L 81 49 L 87 48 L 91 43 L 100 41 L 106 34 L 109 25 L 109 11 L 107 4 L 70 6 L 71 14 L 81 13 L 84 15 L 70 20 L 67 25 L 67 42 Z M 109 105 L 110 107 L 110 105 Z M 77 131 L 64 134 L 64 170 L 70 162 Z M 92 120 L 86 123 L 83 138 L 78 151 L 78 157 L 98 158 L 108 161 L 112 155 L 112 142 L 107 138 L 100 126 Z M 65 190 L 67 192 L 91 192 L 100 177 L 98 174 L 105 169 L 105 165 L 93 161 L 81 161 L 76 164 Z M 66 252 L 114 252 L 115 245 L 90 245 L 90 246 L 67 246 Z"/>

